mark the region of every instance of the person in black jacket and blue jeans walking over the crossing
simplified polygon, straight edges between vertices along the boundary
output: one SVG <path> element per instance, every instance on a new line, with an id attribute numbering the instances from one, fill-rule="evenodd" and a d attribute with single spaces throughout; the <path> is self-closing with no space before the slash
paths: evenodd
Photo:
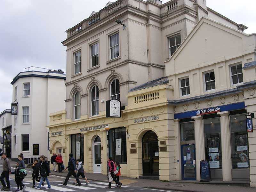
<path id="1" fill-rule="evenodd" d="M 40 156 L 40 160 L 41 160 L 41 165 L 40 165 L 40 173 L 41 173 L 41 178 L 40 178 L 40 183 L 38 186 L 35 186 L 35 188 L 40 189 L 42 183 L 44 182 L 44 180 L 47 182 L 48 187 L 46 189 L 50 189 L 51 188 L 51 184 L 48 180 L 48 176 L 51 175 L 51 170 L 48 164 L 48 159 L 44 156 L 41 155 Z"/>

